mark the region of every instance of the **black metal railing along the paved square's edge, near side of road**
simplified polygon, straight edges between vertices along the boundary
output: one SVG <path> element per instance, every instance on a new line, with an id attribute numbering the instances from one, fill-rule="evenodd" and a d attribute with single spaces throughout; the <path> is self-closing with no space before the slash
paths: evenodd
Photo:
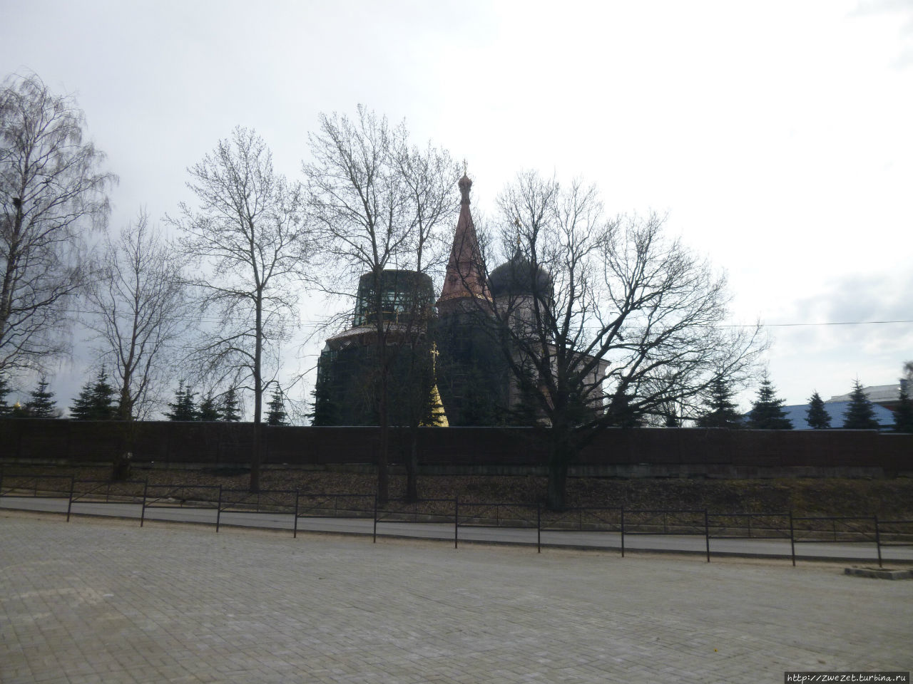
<path id="1" fill-rule="evenodd" d="M 707 561 L 712 554 L 711 540 L 789 540 L 792 565 L 796 564 L 796 544 L 873 544 L 878 565 L 883 566 L 884 547 L 913 547 L 913 520 L 879 521 L 871 516 L 795 516 L 787 513 L 709 513 L 706 509 L 626 509 L 624 507 L 580 506 L 563 511 L 543 509 L 540 504 L 509 502 L 463 502 L 454 499 L 389 499 L 378 502 L 365 493 L 315 493 L 299 490 L 261 490 L 249 492 L 218 485 L 153 483 L 148 479 L 110 482 L 77 480 L 64 475 L 16 475 L 0 472 L 0 499 L 57 499 L 67 501 L 67 521 L 72 514 L 93 514 L 74 510 L 74 504 L 134 504 L 140 507 L 142 527 L 147 512 L 161 510 L 204 510 L 215 513 L 218 532 L 223 513 L 270 514 L 289 516 L 289 529 L 298 536 L 299 520 L 341 518 L 372 520 L 373 529 L 358 534 L 394 534 L 396 529 L 378 532 L 388 523 L 436 525 L 425 528 L 425 537 L 446 538 L 452 526 L 454 546 L 458 547 L 460 529 L 536 530 L 536 547 L 541 552 L 542 533 L 617 535 L 622 556 L 625 537 L 691 536 L 704 539 Z M 62 503 L 60 504 L 62 506 Z M 34 510 L 34 509 L 33 509 Z M 59 511 L 63 513 L 62 510 Z M 116 513 L 115 513 L 116 514 Z M 123 517 L 136 517 L 123 515 Z M 185 521 L 184 521 L 185 522 Z M 268 526 L 252 523 L 247 526 Z M 431 532 L 429 532 L 429 530 Z M 519 542 L 527 544 L 530 542 Z M 561 544 L 575 545 L 575 544 Z M 588 548 L 614 548 L 612 544 L 590 544 Z M 676 549 L 679 553 L 689 553 Z M 723 552 L 717 552 L 723 553 Z M 729 553 L 729 552 L 725 552 Z"/>

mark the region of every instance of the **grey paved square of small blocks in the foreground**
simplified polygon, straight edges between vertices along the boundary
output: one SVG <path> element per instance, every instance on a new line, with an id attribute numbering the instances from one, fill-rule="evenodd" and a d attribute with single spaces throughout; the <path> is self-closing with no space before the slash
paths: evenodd
<path id="1" fill-rule="evenodd" d="M 781 682 L 913 668 L 843 565 L 0 513 L 0 681 Z"/>

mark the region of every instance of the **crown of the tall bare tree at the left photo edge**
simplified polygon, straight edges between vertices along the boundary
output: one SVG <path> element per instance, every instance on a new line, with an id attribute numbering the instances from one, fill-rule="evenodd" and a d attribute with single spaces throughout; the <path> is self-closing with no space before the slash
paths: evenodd
<path id="1" fill-rule="evenodd" d="M 84 235 L 105 226 L 116 180 L 84 126 L 75 100 L 34 74 L 0 90 L 0 372 L 42 368 L 66 349 Z"/>

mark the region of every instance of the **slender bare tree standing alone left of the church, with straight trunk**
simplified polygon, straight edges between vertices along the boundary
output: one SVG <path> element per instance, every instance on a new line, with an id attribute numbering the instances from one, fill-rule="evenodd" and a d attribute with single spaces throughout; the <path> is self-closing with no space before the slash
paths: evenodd
<path id="1" fill-rule="evenodd" d="M 236 128 L 188 170 L 197 207 L 170 219 L 184 253 L 202 270 L 194 285 L 218 323 L 204 331 L 194 366 L 254 399 L 250 489 L 259 489 L 263 394 L 278 372 L 279 349 L 297 325 L 299 288 L 312 250 L 303 192 L 273 170 L 254 130 Z"/>

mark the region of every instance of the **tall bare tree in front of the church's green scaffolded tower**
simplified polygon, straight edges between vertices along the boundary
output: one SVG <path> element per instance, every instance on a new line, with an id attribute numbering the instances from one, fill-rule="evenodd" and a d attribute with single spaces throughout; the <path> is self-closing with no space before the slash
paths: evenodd
<path id="1" fill-rule="evenodd" d="M 446 151 L 409 143 L 404 124 L 359 106 L 355 119 L 320 115 L 320 130 L 309 136 L 313 161 L 303 165 L 310 212 L 317 222 L 325 266 L 334 284 L 354 284 L 373 275 L 373 311 L 383 312 L 383 271 L 425 272 L 443 250 L 436 230 L 455 205 L 451 191 L 458 174 Z M 336 289 L 336 288 L 334 288 Z M 352 291 L 354 287 L 350 288 Z M 339 289 L 336 289 L 339 292 Z M 380 425 L 378 497 L 389 495 L 389 383 L 399 344 L 415 345 L 425 320 L 397 323 L 373 316 L 375 328 L 376 405 Z M 403 326 L 408 328 L 405 331 Z M 395 329 L 394 329 L 395 328 Z M 411 342 L 409 341 L 411 340 Z"/>

